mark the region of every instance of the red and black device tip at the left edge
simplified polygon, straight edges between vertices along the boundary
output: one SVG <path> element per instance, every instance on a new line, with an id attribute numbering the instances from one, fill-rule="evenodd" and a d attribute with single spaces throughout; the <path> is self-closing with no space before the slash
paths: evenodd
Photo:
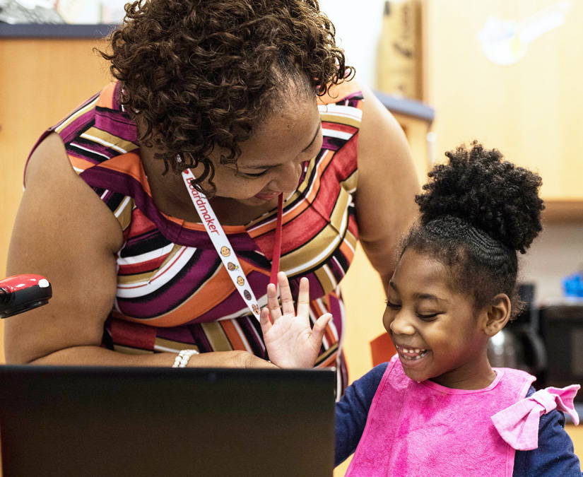
<path id="1" fill-rule="evenodd" d="M 8 276 L 0 280 L 0 318 L 46 305 L 51 297 L 51 284 L 42 275 Z"/>

